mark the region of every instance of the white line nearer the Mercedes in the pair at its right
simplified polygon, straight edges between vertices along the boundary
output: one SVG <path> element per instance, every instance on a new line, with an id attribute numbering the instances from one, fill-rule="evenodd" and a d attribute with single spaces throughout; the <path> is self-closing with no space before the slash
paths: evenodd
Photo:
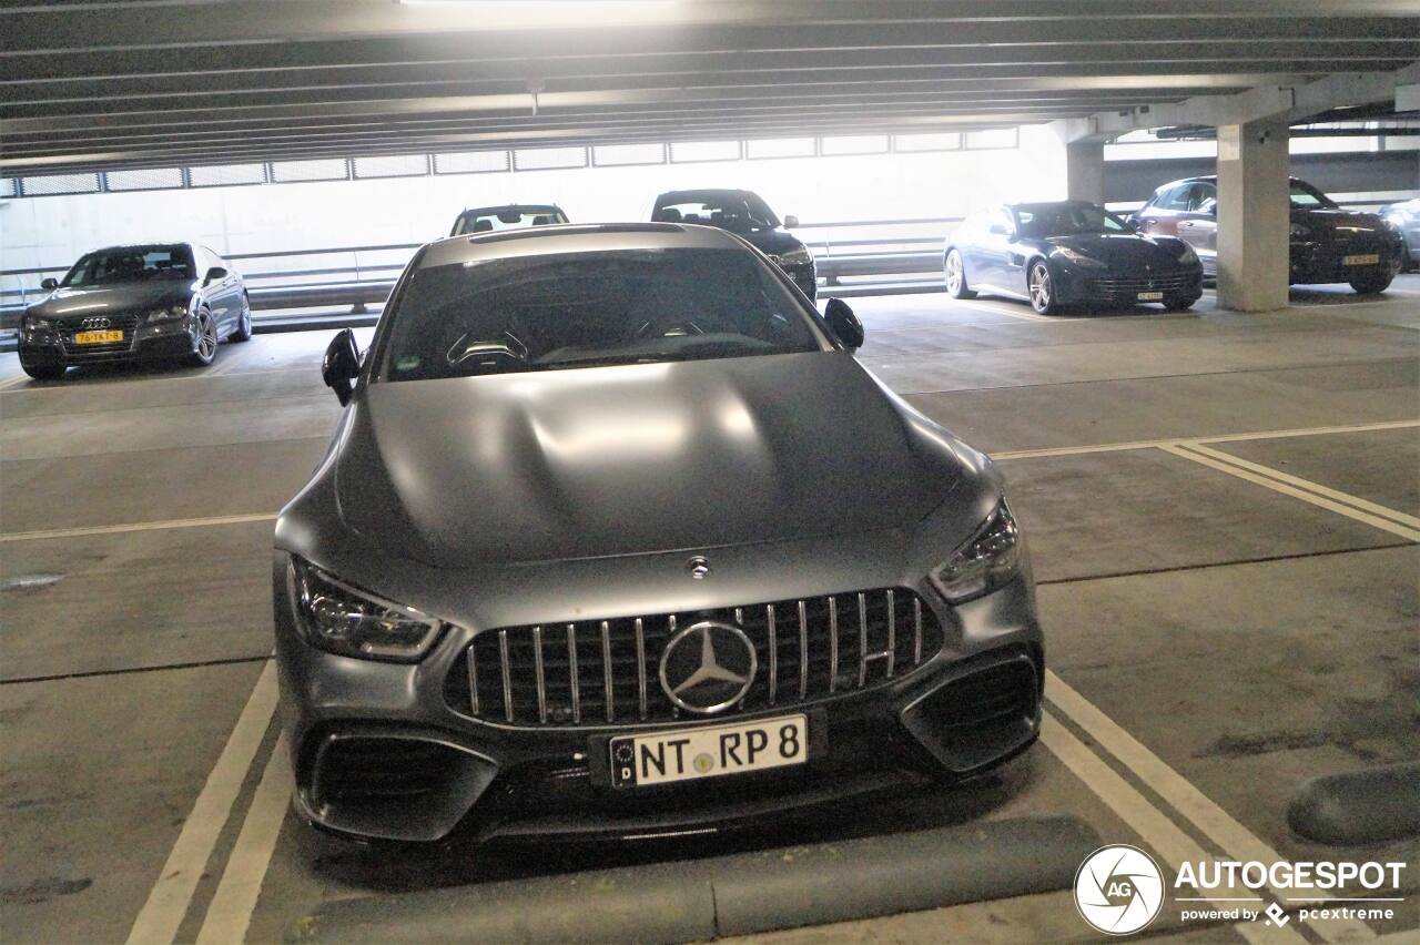
<path id="1" fill-rule="evenodd" d="M 1052 674 L 1047 674 L 1047 685 Z M 1186 834 L 1167 814 L 1154 807 L 1147 797 L 1099 755 L 1092 752 L 1079 738 L 1049 712 L 1041 719 L 1041 744 L 1045 745 L 1061 762 L 1085 783 L 1095 795 L 1113 810 L 1135 833 L 1137 833 L 1154 853 L 1157 853 L 1170 867 L 1179 870 L 1184 863 L 1203 863 L 1213 860 L 1213 854 Z M 1244 894 L 1248 890 L 1220 888 L 1220 897 Z M 1255 900 L 1255 897 L 1248 897 Z M 1369 931 L 1369 929 L 1367 929 Z M 1248 922 L 1238 925 L 1237 932 L 1250 942 L 1289 942 L 1298 944 L 1306 939 L 1292 929 L 1277 929 Z"/>

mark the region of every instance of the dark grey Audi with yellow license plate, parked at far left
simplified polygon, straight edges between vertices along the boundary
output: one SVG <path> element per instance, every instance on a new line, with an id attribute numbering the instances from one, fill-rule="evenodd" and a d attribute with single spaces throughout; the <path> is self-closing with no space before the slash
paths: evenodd
<path id="1" fill-rule="evenodd" d="M 231 264 L 195 243 L 116 245 L 80 258 L 20 319 L 20 366 L 57 379 L 72 365 L 186 358 L 251 338 L 251 299 Z"/>

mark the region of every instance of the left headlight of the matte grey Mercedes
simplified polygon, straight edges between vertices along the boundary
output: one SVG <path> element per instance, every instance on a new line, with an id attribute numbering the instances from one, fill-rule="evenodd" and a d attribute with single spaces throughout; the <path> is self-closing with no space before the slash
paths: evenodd
<path id="1" fill-rule="evenodd" d="M 413 663 L 443 629 L 429 614 L 355 590 L 305 562 L 293 559 L 287 573 L 301 634 L 321 650 Z"/>

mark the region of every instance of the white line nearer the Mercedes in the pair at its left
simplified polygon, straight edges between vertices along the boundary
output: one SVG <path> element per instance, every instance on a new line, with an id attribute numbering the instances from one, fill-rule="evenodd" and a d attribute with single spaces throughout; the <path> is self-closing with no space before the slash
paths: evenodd
<path id="1" fill-rule="evenodd" d="M 202 931 L 197 932 L 197 945 L 229 945 L 246 939 L 251 912 L 261 895 L 261 883 L 285 822 L 293 783 L 291 756 L 283 734 L 261 773 L 261 783 L 257 785 L 247 819 L 237 834 L 237 844 L 227 858 L 227 868 L 222 871 L 217 892 L 207 907 Z"/>

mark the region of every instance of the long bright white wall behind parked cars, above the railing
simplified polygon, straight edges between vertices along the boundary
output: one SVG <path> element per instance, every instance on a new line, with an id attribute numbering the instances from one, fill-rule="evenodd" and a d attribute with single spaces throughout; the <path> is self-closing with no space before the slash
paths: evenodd
<path id="1" fill-rule="evenodd" d="M 151 240 L 190 238 L 223 254 L 422 243 L 446 236 L 463 207 L 514 201 L 555 201 L 574 221 L 646 220 L 657 193 L 696 186 L 757 190 L 805 223 L 890 220 L 1056 199 L 1064 166 L 1054 136 L 1037 126 L 1003 150 L 21 197 L 0 200 L 0 270 L 67 265 L 94 247 Z"/>

